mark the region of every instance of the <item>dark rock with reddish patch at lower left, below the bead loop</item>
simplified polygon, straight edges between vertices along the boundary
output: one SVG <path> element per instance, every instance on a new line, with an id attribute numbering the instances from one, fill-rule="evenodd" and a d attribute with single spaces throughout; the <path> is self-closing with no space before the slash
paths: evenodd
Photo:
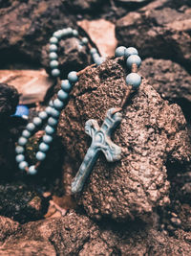
<path id="1" fill-rule="evenodd" d="M 0 215 L 21 223 L 42 219 L 48 201 L 22 183 L 0 184 Z"/>

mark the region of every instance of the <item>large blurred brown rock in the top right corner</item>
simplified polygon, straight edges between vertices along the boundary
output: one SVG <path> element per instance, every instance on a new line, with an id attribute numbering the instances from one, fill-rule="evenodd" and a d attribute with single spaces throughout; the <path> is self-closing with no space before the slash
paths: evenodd
<path id="1" fill-rule="evenodd" d="M 190 8 L 161 8 L 167 1 L 154 1 L 117 21 L 118 44 L 135 46 L 142 58 L 167 58 L 189 70 L 191 64 Z M 176 18 L 175 18 L 176 17 Z"/>

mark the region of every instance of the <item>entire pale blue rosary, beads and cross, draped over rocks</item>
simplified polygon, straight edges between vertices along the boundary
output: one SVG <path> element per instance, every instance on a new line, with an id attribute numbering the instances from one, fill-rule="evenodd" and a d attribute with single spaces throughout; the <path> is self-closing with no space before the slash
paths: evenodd
<path id="1" fill-rule="evenodd" d="M 89 45 L 87 37 L 80 37 L 76 30 L 67 28 L 58 30 L 53 33 L 50 39 L 50 66 L 52 69 L 52 76 L 58 78 L 60 76 L 60 70 L 58 69 L 59 63 L 57 61 L 57 47 L 59 40 L 62 37 L 74 36 L 80 40 L 80 45 L 88 45 L 90 48 L 90 54 L 96 63 L 100 65 L 104 58 L 100 57 L 96 48 L 92 48 Z M 125 81 L 127 86 L 131 90 L 137 90 L 141 83 L 141 77 L 138 75 L 138 67 L 141 64 L 141 59 L 138 57 L 138 50 L 134 47 L 119 46 L 115 52 L 116 57 L 124 57 L 127 68 L 131 70 Z M 66 105 L 70 91 L 72 90 L 74 83 L 78 81 L 80 72 L 72 71 L 68 74 L 68 80 L 61 81 L 61 89 L 57 92 L 57 97 L 54 101 L 50 101 L 49 105 L 44 111 L 40 111 L 37 117 L 34 117 L 32 123 L 29 123 L 22 131 L 21 136 L 18 139 L 16 151 L 16 162 L 20 170 L 27 172 L 29 175 L 35 175 L 38 167 L 46 158 L 46 152 L 49 151 L 50 145 L 53 141 L 53 133 L 55 132 L 56 125 L 58 123 L 61 110 Z M 127 98 L 127 97 L 126 97 Z M 125 98 L 125 100 L 126 100 Z M 112 140 L 112 131 L 117 128 L 117 125 L 122 120 L 122 115 L 119 112 L 121 108 L 110 108 L 107 113 L 102 126 L 99 128 L 96 120 L 90 119 L 85 124 L 85 132 L 92 137 L 92 144 L 88 149 L 82 164 L 79 167 L 77 174 L 72 182 L 72 193 L 79 193 L 83 189 L 86 178 L 90 175 L 98 156 L 98 152 L 102 151 L 109 162 L 117 161 L 121 158 L 121 148 L 118 147 Z M 29 166 L 25 160 L 25 146 L 28 139 L 35 132 L 36 128 L 39 128 L 47 121 L 45 127 L 45 135 L 42 137 L 42 142 L 38 146 L 38 151 L 35 154 L 37 163 Z"/>

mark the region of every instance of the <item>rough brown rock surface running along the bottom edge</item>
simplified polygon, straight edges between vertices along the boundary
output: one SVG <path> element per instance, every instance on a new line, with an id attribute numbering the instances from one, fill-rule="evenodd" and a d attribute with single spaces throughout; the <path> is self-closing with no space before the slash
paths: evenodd
<path id="1" fill-rule="evenodd" d="M 13 225 L 20 228 L 15 222 Z M 189 255 L 191 249 L 190 232 L 178 230 L 175 237 L 169 237 L 142 223 L 108 227 L 74 212 L 63 218 L 26 223 L 17 234 L 13 234 L 14 229 L 0 245 L 0 255 L 178 256 Z"/>

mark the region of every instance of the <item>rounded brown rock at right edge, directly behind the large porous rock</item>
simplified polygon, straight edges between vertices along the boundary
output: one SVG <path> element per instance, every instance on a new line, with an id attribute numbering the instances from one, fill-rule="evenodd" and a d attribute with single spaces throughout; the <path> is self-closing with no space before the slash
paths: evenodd
<path id="1" fill-rule="evenodd" d="M 146 58 L 142 61 L 140 73 L 163 99 L 179 104 L 189 119 L 191 77 L 179 64 L 171 60 Z"/>

